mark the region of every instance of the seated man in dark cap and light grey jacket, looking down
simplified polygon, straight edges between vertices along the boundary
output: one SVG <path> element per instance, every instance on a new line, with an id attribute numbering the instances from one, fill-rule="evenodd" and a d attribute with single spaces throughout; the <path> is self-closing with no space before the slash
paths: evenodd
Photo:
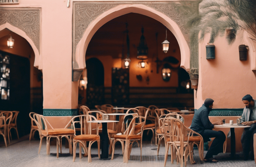
<path id="1" fill-rule="evenodd" d="M 253 100 L 251 95 L 245 95 L 242 101 L 245 104 L 241 118 L 242 125 L 251 125 L 251 127 L 245 128 L 241 137 L 244 160 L 246 161 L 249 159 L 250 144 L 252 142 L 251 140 L 253 140 L 253 134 L 256 133 L 256 100 Z M 254 159 L 253 149 L 251 149 L 251 151 L 250 159 Z"/>

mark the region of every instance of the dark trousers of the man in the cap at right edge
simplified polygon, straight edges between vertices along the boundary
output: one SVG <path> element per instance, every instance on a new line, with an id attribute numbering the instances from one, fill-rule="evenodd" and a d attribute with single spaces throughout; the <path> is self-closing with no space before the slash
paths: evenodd
<path id="1" fill-rule="evenodd" d="M 245 128 L 242 134 L 241 143 L 242 143 L 243 154 L 245 159 L 249 158 L 250 144 L 252 143 L 251 141 L 253 140 L 253 134 L 255 133 L 256 133 L 256 124 L 252 124 L 251 127 Z M 252 152 L 253 152 L 253 149 L 252 149 Z"/>

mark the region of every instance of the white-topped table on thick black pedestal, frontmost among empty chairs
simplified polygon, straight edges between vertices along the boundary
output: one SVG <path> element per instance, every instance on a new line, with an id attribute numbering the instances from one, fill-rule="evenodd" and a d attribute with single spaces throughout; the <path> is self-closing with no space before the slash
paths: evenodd
<path id="1" fill-rule="evenodd" d="M 101 143 L 101 156 L 100 160 L 109 160 L 109 147 L 108 147 L 108 122 L 119 122 L 114 120 L 97 120 L 97 121 L 87 121 L 87 122 L 94 122 L 94 123 L 102 123 L 102 143 Z"/>

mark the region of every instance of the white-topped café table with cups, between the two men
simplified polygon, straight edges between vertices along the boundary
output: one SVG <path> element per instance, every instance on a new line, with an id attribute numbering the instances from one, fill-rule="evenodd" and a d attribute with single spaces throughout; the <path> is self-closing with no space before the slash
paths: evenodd
<path id="1" fill-rule="evenodd" d="M 230 128 L 230 149 L 231 149 L 231 158 L 235 158 L 236 144 L 235 144 L 235 128 L 245 128 L 251 126 L 237 125 L 237 124 L 222 124 L 222 125 L 214 125 L 214 127 L 219 128 Z"/>

